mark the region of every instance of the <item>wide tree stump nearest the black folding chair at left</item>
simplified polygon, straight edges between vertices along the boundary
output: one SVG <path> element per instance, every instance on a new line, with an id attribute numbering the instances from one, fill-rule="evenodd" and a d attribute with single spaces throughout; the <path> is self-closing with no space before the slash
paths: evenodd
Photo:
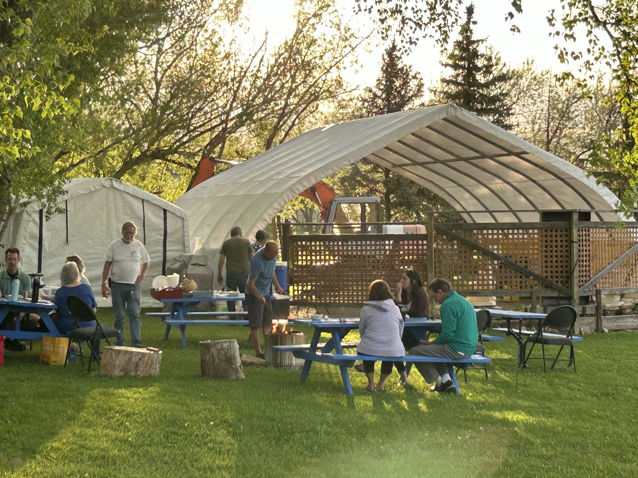
<path id="1" fill-rule="evenodd" d="M 159 375 L 161 350 L 152 347 L 104 347 L 100 373 L 110 377 Z"/>

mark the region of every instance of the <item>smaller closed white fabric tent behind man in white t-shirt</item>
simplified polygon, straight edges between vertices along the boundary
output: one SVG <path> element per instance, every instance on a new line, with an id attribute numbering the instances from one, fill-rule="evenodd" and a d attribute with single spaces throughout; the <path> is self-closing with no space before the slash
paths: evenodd
<path id="1" fill-rule="evenodd" d="M 172 257 L 190 252 L 186 213 L 164 199 L 114 178 L 77 178 L 64 185 L 57 201 L 61 214 L 47 221 L 39 201 L 20 208 L 4 233 L 4 249 L 20 249 L 20 268 L 42 272 L 47 286 L 60 285 L 66 256 L 77 254 L 86 266 L 98 307 L 110 307 L 100 292 L 101 274 L 108 244 L 121 237 L 122 224 L 133 221 L 136 239 L 151 257 L 142 282 L 142 304 L 157 305 L 151 298 L 152 279 L 160 275 Z M 4 250 L 0 251 L 4 257 Z"/>

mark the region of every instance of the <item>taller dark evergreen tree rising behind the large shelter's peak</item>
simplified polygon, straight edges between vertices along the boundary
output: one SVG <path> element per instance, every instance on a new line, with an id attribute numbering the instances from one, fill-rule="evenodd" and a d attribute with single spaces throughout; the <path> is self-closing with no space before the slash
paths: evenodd
<path id="1" fill-rule="evenodd" d="M 475 39 L 472 25 L 474 5 L 466 8 L 466 20 L 459 38 L 441 66 L 450 69 L 450 76 L 441 78 L 440 85 L 431 90 L 437 103 L 456 103 L 468 111 L 504 129 L 512 129 L 509 118 L 510 74 L 500 56 L 491 48 L 482 48 L 485 38 Z"/>

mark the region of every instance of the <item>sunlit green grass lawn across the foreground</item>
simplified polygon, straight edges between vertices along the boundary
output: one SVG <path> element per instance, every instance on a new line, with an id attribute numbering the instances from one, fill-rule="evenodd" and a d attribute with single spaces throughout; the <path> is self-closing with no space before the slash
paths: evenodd
<path id="1" fill-rule="evenodd" d="M 0 477 L 638 475 L 638 333 L 589 335 L 577 374 L 545 375 L 538 362 L 517 391 L 508 338 L 487 344 L 489 383 L 472 371 L 461 396 L 427 392 L 416 371 L 413 389 L 394 372 L 369 394 L 353 371 L 348 397 L 338 368 L 316 363 L 306 384 L 298 371 L 248 367 L 245 380 L 204 379 L 197 342 L 237 338 L 250 353 L 248 330 L 194 326 L 187 349 L 163 330 L 143 319 L 144 344 L 163 351 L 159 377 L 39 365 L 39 342 L 6 352 Z"/>

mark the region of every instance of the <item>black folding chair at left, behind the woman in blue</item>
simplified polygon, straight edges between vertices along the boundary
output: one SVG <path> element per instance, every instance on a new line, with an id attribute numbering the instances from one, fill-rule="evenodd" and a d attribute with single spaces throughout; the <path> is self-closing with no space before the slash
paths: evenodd
<path id="1" fill-rule="evenodd" d="M 73 325 L 75 328 L 69 332 L 69 347 L 66 349 L 67 359 L 64 360 L 64 366 L 68 363 L 69 351 L 74 340 L 77 340 L 78 346 L 80 347 L 80 353 L 74 355 L 79 355 L 80 359 L 82 359 L 82 365 L 84 365 L 82 341 L 88 340 L 91 342 L 91 355 L 89 355 L 89 370 L 87 370 L 87 372 L 91 372 L 91 362 L 93 362 L 94 359 L 98 365 L 100 365 L 100 356 L 98 355 L 98 351 L 100 350 L 100 340 L 105 338 L 107 340 L 107 344 L 110 345 L 108 338 L 117 337 L 119 335 L 119 330 L 112 327 L 102 327 L 100 322 L 98 322 L 95 312 L 93 312 L 93 308 L 89 307 L 89 305 L 87 305 L 87 303 L 78 296 L 68 296 L 66 298 L 66 307 L 68 308 L 71 317 L 73 317 Z M 90 321 L 95 321 L 95 325 L 91 327 L 80 327 L 80 322 Z"/>

